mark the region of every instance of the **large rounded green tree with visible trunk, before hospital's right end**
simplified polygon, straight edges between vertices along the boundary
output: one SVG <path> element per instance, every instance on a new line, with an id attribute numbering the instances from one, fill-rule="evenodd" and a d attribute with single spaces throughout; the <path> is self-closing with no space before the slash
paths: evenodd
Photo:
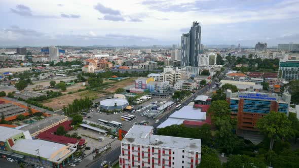
<path id="1" fill-rule="evenodd" d="M 256 128 L 270 138 L 269 149 L 272 150 L 275 140 L 294 135 L 291 124 L 292 122 L 284 113 L 271 111 L 268 115 L 258 119 Z"/>

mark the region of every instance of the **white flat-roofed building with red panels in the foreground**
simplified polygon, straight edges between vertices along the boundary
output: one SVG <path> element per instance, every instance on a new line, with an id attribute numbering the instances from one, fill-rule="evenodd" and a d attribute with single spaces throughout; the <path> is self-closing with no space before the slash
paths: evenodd
<path id="1" fill-rule="evenodd" d="M 133 125 L 121 142 L 120 167 L 195 168 L 201 140 L 153 135 L 153 127 Z"/>

